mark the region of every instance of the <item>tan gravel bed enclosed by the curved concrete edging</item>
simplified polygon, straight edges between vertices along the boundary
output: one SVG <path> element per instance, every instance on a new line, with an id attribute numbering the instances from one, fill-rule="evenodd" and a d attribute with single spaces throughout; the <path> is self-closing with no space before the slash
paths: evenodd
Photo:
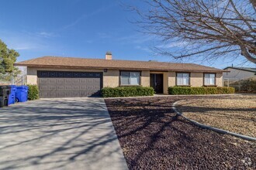
<path id="1" fill-rule="evenodd" d="M 256 137 L 256 96 L 192 99 L 179 103 L 178 109 L 199 123 Z"/>

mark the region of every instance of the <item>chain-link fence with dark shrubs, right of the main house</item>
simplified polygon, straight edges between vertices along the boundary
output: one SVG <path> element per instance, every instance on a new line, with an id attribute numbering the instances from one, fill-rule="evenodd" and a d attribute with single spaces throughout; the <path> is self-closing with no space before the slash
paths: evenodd
<path id="1" fill-rule="evenodd" d="M 237 93 L 256 93 L 256 78 L 223 79 L 224 87 L 234 87 Z"/>

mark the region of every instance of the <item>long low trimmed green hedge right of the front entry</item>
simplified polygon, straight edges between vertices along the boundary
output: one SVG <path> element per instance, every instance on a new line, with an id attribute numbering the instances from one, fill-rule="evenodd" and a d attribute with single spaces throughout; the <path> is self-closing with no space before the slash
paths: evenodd
<path id="1" fill-rule="evenodd" d="M 225 94 L 225 93 L 234 93 L 234 88 L 233 87 L 168 87 L 168 93 L 172 95 Z"/>

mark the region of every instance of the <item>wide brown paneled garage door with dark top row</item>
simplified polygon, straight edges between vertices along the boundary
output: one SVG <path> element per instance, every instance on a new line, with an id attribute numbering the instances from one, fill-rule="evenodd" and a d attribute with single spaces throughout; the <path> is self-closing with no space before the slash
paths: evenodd
<path id="1" fill-rule="evenodd" d="M 38 71 L 40 97 L 99 96 L 102 73 Z"/>

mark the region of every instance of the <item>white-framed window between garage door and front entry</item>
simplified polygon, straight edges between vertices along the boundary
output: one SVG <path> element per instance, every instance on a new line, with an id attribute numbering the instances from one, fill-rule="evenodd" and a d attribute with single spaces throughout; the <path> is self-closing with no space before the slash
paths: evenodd
<path id="1" fill-rule="evenodd" d="M 140 72 L 121 72 L 121 85 L 140 85 Z"/>

